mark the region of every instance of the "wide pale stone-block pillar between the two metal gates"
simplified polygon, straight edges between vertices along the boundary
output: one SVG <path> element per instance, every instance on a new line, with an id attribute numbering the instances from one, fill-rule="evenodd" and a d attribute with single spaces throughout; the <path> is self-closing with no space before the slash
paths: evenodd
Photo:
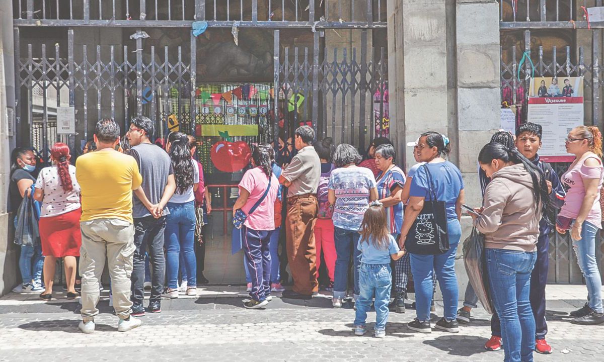
<path id="1" fill-rule="evenodd" d="M 481 204 L 477 156 L 500 127 L 500 30 L 495 0 L 388 0 L 388 72 L 393 140 L 428 130 L 449 136 L 449 157 L 463 175 L 466 203 Z M 462 238 L 471 219 L 462 218 Z M 461 247 L 455 270 L 467 284 Z"/>

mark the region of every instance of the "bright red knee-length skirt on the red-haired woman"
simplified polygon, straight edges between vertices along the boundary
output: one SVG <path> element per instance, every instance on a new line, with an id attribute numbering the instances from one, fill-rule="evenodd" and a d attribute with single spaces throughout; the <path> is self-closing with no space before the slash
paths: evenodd
<path id="1" fill-rule="evenodd" d="M 51 217 L 40 218 L 40 241 L 42 255 L 63 258 L 80 256 L 82 232 L 80 217 L 82 209 Z"/>

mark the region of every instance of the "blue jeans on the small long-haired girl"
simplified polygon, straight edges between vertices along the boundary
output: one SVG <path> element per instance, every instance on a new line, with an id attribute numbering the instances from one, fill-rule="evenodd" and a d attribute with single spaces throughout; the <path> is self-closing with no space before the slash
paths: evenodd
<path id="1" fill-rule="evenodd" d="M 356 300 L 355 326 L 364 326 L 367 312 L 371 309 L 371 298 L 375 296 L 375 331 L 384 331 L 388 321 L 388 303 L 392 287 L 390 264 L 365 264 L 359 267 L 359 287 L 361 294 Z"/>

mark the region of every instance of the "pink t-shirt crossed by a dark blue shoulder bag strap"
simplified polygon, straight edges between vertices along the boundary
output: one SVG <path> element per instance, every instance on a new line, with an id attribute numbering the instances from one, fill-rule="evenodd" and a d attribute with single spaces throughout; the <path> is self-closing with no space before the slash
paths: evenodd
<path id="1" fill-rule="evenodd" d="M 260 203 L 257 209 L 248 215 L 243 223 L 253 230 L 274 230 L 275 229 L 275 199 L 279 188 L 279 180 L 275 174 L 271 175 L 271 189 L 266 194 L 265 199 Z M 243 212 L 249 214 L 249 209 L 264 195 L 268 187 L 268 177 L 262 168 L 255 167 L 243 174 L 243 179 L 239 182 L 239 187 L 249 192 L 248 202 L 243 205 Z"/>

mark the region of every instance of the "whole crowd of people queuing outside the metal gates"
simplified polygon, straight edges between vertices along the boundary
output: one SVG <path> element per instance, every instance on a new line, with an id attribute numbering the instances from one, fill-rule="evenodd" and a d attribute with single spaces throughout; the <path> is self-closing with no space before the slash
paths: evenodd
<path id="1" fill-rule="evenodd" d="M 53 165 L 43 168 L 37 180 L 31 174 L 34 154 L 24 148 L 13 152 L 11 205 L 30 194 L 41 202 L 41 247 L 22 246 L 21 291 L 49 300 L 54 265 L 63 258 L 68 297 L 77 297 L 79 257 L 83 332 L 95 328 L 105 261 L 120 331 L 140 325 L 135 317 L 145 311 L 161 312 L 162 297 L 197 294 L 194 246 L 201 240 L 211 202 L 201 164 L 193 157 L 195 139 L 173 132 L 162 148 L 152 143 L 153 133 L 150 119 L 133 119 L 127 131 L 130 149 L 120 152 L 119 126 L 102 119 L 94 142 L 86 144 L 87 152 L 75 167 L 69 164 L 69 148 L 56 144 Z M 496 133 L 478 155 L 483 204 L 474 205 L 469 214 L 484 235 L 484 279 L 497 285 L 490 288 L 496 313 L 485 348 L 503 346 L 506 361 L 531 360 L 534 350 L 551 353 L 545 341 L 545 283 L 548 234 L 554 225 L 559 233 L 570 230 L 588 289 L 585 306 L 571 313 L 573 323 L 604 322 L 595 256 L 602 227 L 602 135 L 597 127 L 571 130 L 566 147 L 576 160 L 562 177 L 539 159 L 541 138 L 541 126 L 526 123 L 515 135 Z M 410 142 L 417 163 L 406 175 L 385 138 L 376 138 L 365 157 L 349 144 L 335 147 L 330 138 L 315 141 L 315 132 L 306 125 L 295 130 L 291 143 L 255 145 L 251 167 L 238 185 L 233 221 L 244 253 L 249 291 L 245 308 L 267 306 L 271 293 L 294 299 L 316 296 L 324 260 L 333 307 L 342 307 L 352 292 L 356 335 L 367 331 L 373 302 L 374 334 L 385 336 L 389 311 L 405 312 L 411 279 L 416 318 L 409 329 L 432 331 L 437 282 L 444 307 L 434 328 L 459 332 L 459 322 L 471 323 L 478 300 L 471 284 L 457 309 L 455 256 L 465 190 L 460 170 L 448 160 L 449 139 L 425 132 Z M 279 253 L 283 229 L 286 242 Z M 281 284 L 280 255 L 286 255 L 293 279 L 288 290 Z"/>

